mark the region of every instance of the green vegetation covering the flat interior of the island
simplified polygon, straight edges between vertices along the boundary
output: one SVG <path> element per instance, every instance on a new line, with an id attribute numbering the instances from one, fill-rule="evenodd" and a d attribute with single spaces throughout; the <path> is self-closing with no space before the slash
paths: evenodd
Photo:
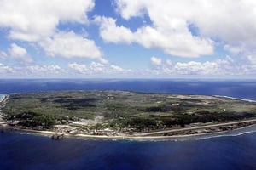
<path id="1" fill-rule="evenodd" d="M 3 108 L 6 119 L 24 127 L 94 120 L 96 128 L 162 129 L 195 122 L 226 122 L 256 116 L 256 104 L 202 95 L 143 94 L 126 91 L 66 91 L 12 94 Z"/>

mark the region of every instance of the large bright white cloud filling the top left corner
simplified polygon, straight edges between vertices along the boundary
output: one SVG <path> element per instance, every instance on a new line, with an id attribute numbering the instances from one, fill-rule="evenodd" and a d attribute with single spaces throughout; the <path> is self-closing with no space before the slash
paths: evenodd
<path id="1" fill-rule="evenodd" d="M 94 0 L 1 0 L 0 26 L 9 27 L 9 37 L 38 41 L 55 33 L 65 22 L 88 22 L 86 13 Z"/>

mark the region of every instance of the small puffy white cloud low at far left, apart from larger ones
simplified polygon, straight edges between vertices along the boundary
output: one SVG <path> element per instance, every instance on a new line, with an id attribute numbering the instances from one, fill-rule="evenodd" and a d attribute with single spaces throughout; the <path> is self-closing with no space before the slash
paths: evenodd
<path id="1" fill-rule="evenodd" d="M 26 48 L 22 48 L 15 43 L 9 48 L 9 56 L 5 55 L 5 59 L 18 59 L 26 63 L 32 63 L 32 57 L 27 54 Z"/>

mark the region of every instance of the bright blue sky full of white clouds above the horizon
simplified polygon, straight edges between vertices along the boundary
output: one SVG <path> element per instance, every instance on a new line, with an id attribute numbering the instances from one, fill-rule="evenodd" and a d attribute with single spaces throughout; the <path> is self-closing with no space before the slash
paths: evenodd
<path id="1" fill-rule="evenodd" d="M 256 78 L 253 0 L 0 0 L 0 78 Z"/>

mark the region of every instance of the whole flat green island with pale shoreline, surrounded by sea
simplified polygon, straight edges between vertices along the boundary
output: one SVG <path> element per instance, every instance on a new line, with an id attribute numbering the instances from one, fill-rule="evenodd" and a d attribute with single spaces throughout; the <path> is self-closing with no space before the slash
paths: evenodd
<path id="1" fill-rule="evenodd" d="M 224 96 L 115 90 L 5 95 L 0 126 L 27 132 L 152 139 L 222 133 L 256 123 L 256 103 Z"/>

